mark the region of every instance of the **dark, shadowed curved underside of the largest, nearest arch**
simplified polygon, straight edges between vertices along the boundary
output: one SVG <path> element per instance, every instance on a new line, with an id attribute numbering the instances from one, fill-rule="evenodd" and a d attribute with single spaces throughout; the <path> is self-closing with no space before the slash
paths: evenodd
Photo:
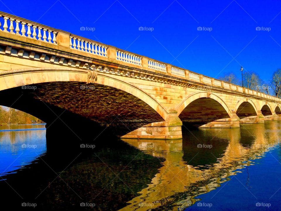
<path id="1" fill-rule="evenodd" d="M 32 84 L 29 88 L 0 91 L 0 104 L 34 115 L 47 126 L 54 127 L 61 120 L 60 124 L 79 130 L 110 128 L 116 135 L 164 120 L 138 97 L 110 86 L 60 81 Z"/>

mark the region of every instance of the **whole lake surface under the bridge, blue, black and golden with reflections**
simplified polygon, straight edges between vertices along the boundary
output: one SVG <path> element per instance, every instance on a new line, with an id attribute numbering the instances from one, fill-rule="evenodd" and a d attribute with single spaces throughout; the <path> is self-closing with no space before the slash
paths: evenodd
<path id="1" fill-rule="evenodd" d="M 60 140 L 46 140 L 45 125 L 0 126 L 0 201 L 31 210 L 281 210 L 280 135 L 281 121 L 267 121 L 52 151 L 46 143 Z"/>

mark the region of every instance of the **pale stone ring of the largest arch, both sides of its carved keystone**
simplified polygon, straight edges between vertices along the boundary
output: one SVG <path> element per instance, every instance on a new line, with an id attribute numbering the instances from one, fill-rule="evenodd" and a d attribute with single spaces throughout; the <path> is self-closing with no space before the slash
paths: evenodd
<path id="1" fill-rule="evenodd" d="M 78 81 L 87 82 L 88 70 L 75 68 L 32 68 L 5 71 L 0 73 L 0 91 L 18 86 L 38 84 L 56 81 Z M 138 89 L 138 87 L 128 84 L 118 79 L 110 78 L 105 75 L 97 76 L 97 84 L 111 86 L 136 96 L 153 108 L 164 120 L 167 112 L 155 101 L 148 93 Z"/>

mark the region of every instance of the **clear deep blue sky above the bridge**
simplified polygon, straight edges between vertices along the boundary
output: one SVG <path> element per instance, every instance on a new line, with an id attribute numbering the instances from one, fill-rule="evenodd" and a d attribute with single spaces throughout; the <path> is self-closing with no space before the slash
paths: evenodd
<path id="1" fill-rule="evenodd" d="M 242 65 L 267 80 L 281 68 L 280 1 L 0 0 L 0 10 L 211 77 L 240 78 Z"/>

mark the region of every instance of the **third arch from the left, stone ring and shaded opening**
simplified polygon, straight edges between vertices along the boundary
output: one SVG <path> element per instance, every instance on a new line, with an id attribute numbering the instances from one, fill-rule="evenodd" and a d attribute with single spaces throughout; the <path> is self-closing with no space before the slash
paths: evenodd
<path id="1" fill-rule="evenodd" d="M 239 100 L 234 108 L 234 111 L 239 118 L 258 115 L 256 105 L 249 98 L 242 98 Z"/>

